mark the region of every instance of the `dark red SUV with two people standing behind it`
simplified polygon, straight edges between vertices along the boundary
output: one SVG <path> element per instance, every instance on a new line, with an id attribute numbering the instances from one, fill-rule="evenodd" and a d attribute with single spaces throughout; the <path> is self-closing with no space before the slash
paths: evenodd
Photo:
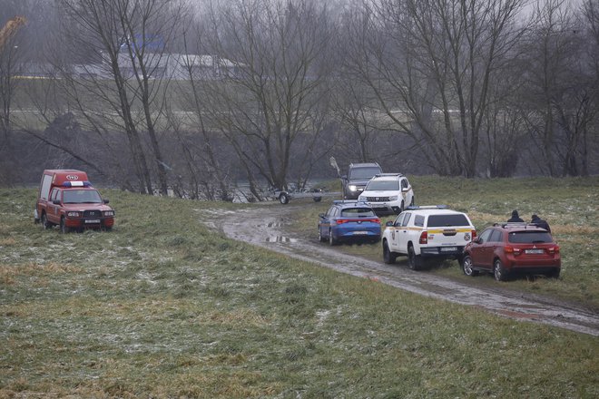
<path id="1" fill-rule="evenodd" d="M 519 273 L 557 278 L 562 260 L 547 230 L 526 223 L 496 223 L 466 245 L 462 268 L 466 276 L 491 272 L 497 281 Z"/>

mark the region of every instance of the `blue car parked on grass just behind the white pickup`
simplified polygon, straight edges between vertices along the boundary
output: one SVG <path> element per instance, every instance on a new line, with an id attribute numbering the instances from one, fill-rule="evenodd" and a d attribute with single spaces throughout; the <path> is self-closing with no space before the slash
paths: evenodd
<path id="1" fill-rule="evenodd" d="M 330 245 L 341 241 L 377 242 L 380 239 L 380 219 L 365 203 L 336 200 L 319 214 L 319 240 Z"/>

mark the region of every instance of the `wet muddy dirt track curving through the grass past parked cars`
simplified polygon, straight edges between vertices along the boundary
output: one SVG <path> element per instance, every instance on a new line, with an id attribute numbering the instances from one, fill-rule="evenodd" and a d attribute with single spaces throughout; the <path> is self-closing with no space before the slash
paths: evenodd
<path id="1" fill-rule="evenodd" d="M 267 205 L 260 209 L 221 211 L 220 228 L 229 238 L 318 263 L 353 276 L 374 278 L 393 287 L 426 297 L 435 297 L 462 305 L 485 308 L 497 315 L 559 326 L 599 336 L 599 315 L 584 308 L 565 305 L 555 299 L 516 292 L 508 287 L 471 287 L 447 277 L 410 270 L 400 262 L 386 265 L 381 261 L 343 254 L 316 237 L 300 238 L 290 232 L 293 210 L 307 204 Z M 315 229 L 316 230 L 316 229 Z"/>

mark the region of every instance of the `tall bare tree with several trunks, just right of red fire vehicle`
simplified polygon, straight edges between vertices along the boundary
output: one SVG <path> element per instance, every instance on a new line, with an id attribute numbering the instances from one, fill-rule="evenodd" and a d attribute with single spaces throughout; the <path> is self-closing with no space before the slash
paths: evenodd
<path id="1" fill-rule="evenodd" d="M 66 15 L 65 37 L 79 52 L 70 54 L 70 60 L 83 63 L 83 73 L 69 65 L 64 69 L 69 78 L 65 79 L 65 92 L 89 128 L 102 133 L 110 126 L 126 133 L 140 190 L 153 192 L 149 158 L 159 190 L 166 194 L 168 165 L 158 124 L 169 83 L 165 49 L 179 28 L 183 3 L 62 0 L 61 5 Z"/>

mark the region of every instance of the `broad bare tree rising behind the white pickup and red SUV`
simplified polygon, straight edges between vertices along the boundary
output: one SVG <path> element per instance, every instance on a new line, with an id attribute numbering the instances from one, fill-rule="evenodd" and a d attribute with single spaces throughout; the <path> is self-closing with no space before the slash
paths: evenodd
<path id="1" fill-rule="evenodd" d="M 412 138 L 440 174 L 476 174 L 490 87 L 517 43 L 522 3 L 365 2 L 349 32 L 354 73 L 378 100 L 382 127 Z"/>

